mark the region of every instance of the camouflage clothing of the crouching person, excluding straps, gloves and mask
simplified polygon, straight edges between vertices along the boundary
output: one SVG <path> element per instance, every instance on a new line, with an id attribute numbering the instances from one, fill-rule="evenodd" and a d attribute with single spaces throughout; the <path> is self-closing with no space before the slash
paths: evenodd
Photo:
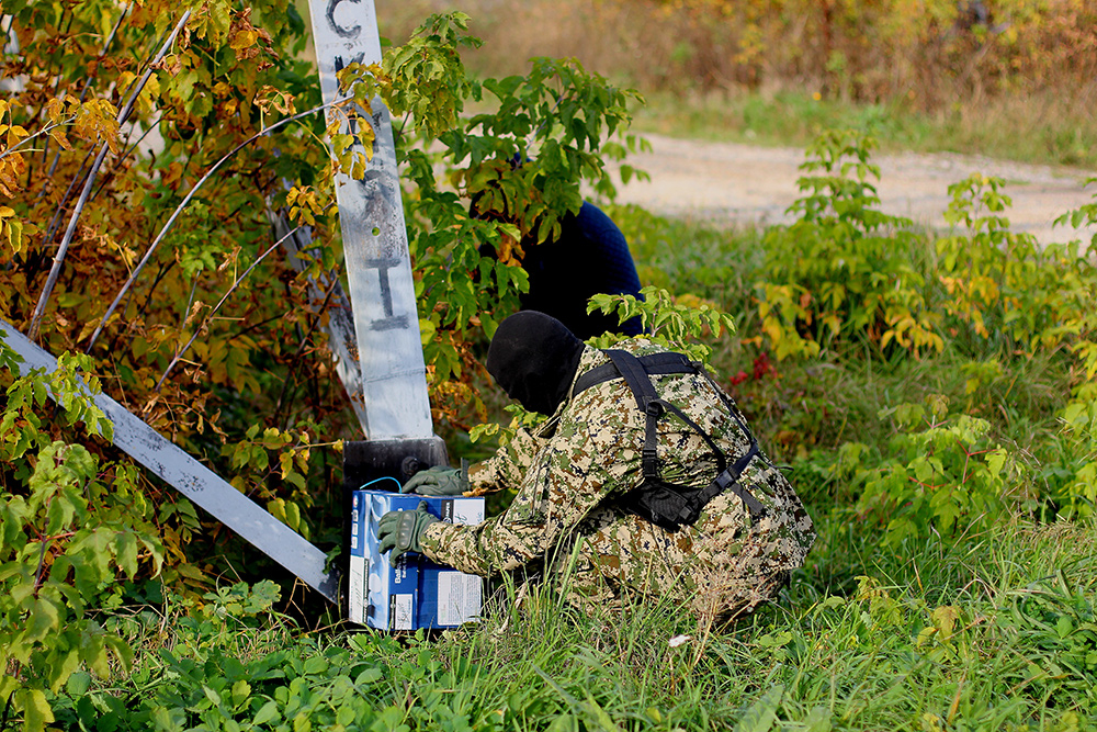
<path id="1" fill-rule="evenodd" d="M 635 356 L 665 350 L 642 339 L 618 348 Z M 608 362 L 601 351 L 587 348 L 576 378 Z M 659 397 L 708 432 L 728 462 L 747 452 L 749 437 L 710 380 L 667 374 L 652 381 Z M 740 601 L 735 598 L 742 588 L 731 592 L 723 586 L 728 577 L 740 577 L 732 582 L 735 585 L 772 584 L 772 577 L 803 563 L 815 538 L 812 521 L 788 481 L 762 453 L 747 464 L 740 478 L 766 507 L 758 520 L 728 493 L 709 503 L 693 526 L 676 533 L 633 515 L 629 493 L 642 481 L 645 427 L 646 415 L 622 379 L 569 395 L 536 433 L 519 432 L 472 472 L 476 487 L 517 488 L 510 507 L 477 526 L 431 525 L 420 539 L 423 553 L 462 572 L 491 576 L 538 560 L 551 566 L 584 537 L 593 548 L 588 558 L 592 574 L 607 576 L 615 586 L 682 599 L 708 588 L 706 601 L 719 606 Z M 716 457 L 693 429 L 666 415 L 658 435 L 664 481 L 699 486 L 712 482 Z M 656 562 L 653 554 L 658 555 Z M 653 578 L 656 564 L 660 574 Z"/>

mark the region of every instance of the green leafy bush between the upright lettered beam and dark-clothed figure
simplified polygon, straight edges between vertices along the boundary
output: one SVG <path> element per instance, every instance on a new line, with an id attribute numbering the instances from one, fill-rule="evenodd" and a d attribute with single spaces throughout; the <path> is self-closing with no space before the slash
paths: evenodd
<path id="1" fill-rule="evenodd" d="M 340 74 L 361 106 L 380 94 L 405 117 L 397 158 L 428 382 L 436 421 L 459 429 L 470 413 L 484 417 L 472 345 L 518 309 L 524 252 L 579 211 L 581 184 L 612 198 L 607 160 L 641 145 L 625 133 L 635 92 L 574 59 L 534 58 L 523 76 L 474 80 L 459 54 L 479 43 L 467 29 L 464 13 L 431 15 L 380 67 Z M 477 112 L 462 117 L 470 101 Z M 618 170 L 623 180 L 643 174 Z"/>

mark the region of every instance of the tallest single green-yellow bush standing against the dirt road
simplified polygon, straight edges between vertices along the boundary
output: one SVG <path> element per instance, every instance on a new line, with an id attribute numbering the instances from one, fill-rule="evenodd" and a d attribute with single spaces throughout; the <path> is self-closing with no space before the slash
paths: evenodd
<path id="1" fill-rule="evenodd" d="M 882 213 L 870 162 L 872 138 L 830 132 L 807 149 L 798 181 L 798 221 L 762 237 L 761 327 L 778 359 L 817 356 L 864 339 L 915 353 L 941 350 L 940 316 L 916 267 L 923 239 L 911 222 Z"/>

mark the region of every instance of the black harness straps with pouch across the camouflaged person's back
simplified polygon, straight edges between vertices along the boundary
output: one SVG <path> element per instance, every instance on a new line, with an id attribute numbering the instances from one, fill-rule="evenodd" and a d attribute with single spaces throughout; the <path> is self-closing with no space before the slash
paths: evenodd
<path id="1" fill-rule="evenodd" d="M 703 373 L 704 367 L 690 361 L 681 353 L 655 353 L 636 358 L 623 350 L 606 350 L 611 363 L 591 369 L 576 380 L 573 396 L 595 386 L 596 384 L 623 378 L 636 399 L 636 407 L 647 419 L 644 429 L 644 449 L 642 452 L 643 481 L 629 495 L 634 496 L 631 508 L 657 526 L 669 531 L 677 531 L 682 525 L 697 521 L 704 506 L 724 491 L 731 491 L 743 500 L 747 510 L 755 518 L 765 516 L 766 507 L 745 487 L 739 484 L 739 476 L 747 464 L 758 454 L 758 442 L 749 428 L 739 418 L 733 404 L 713 384 L 721 401 L 731 412 L 732 417 L 750 440 L 750 448 L 734 464 L 727 465 L 727 457 L 721 450 L 712 436 L 706 433 L 690 419 L 680 408 L 665 399 L 660 399 L 652 383 L 651 373 Z M 711 383 L 711 379 L 709 379 Z M 719 463 L 719 474 L 715 480 L 701 489 L 687 485 L 676 485 L 664 481 L 659 474 L 658 462 L 658 420 L 666 412 L 672 412 L 697 432 L 712 450 Z"/>

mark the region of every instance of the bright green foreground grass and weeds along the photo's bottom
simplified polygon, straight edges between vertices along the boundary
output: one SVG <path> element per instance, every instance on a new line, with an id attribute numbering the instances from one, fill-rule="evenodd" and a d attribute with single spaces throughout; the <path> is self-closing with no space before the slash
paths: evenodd
<path id="1" fill-rule="evenodd" d="M 580 616 L 510 586 L 457 631 L 315 635 L 242 610 L 240 590 L 197 620 L 169 603 L 162 621 L 121 623 L 134 672 L 70 697 L 59 721 L 76 727 L 82 705 L 115 729 L 1092 729 L 1093 523 L 1015 519 L 887 552 L 855 517 L 813 514 L 808 565 L 732 628 L 659 604 Z"/>

